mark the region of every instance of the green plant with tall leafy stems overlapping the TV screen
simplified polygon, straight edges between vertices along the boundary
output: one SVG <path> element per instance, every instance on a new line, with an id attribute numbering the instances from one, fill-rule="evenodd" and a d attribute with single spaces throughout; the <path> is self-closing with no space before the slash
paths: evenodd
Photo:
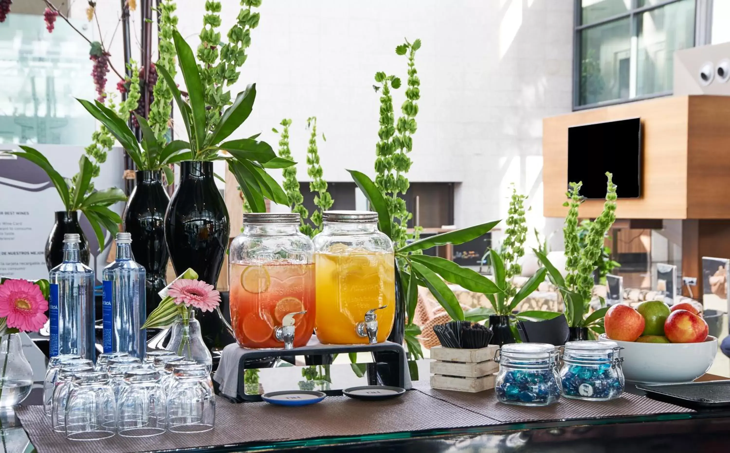
<path id="1" fill-rule="evenodd" d="M 565 278 L 560 271 L 550 263 L 545 253 L 535 250 L 545 268 L 548 269 L 550 282 L 558 287 L 565 304 L 565 316 L 570 328 L 570 340 L 584 340 L 588 338 L 588 329 L 594 333 L 604 333 L 603 318 L 608 307 L 603 306 L 605 301 L 601 298 L 602 308 L 588 314 L 593 295 L 593 271 L 596 268 L 596 260 L 601 257 L 604 247 L 604 236 L 616 220 L 616 185 L 612 182 L 612 175 L 606 172 L 607 189 L 606 201 L 603 211 L 590 225 L 590 230 L 585 236 L 585 247 L 580 247 L 578 237 L 578 207 L 583 203 L 584 198 L 580 196 L 582 182 L 571 182 L 570 189 L 566 192 L 569 201 L 564 206 L 569 207 L 565 217 L 563 235 L 565 239 L 566 272 Z"/>

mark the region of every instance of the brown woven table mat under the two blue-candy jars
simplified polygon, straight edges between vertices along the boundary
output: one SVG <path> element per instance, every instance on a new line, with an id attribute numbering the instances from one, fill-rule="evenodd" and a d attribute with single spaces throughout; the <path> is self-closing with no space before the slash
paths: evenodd
<path id="1" fill-rule="evenodd" d="M 558 403 L 550 406 L 526 407 L 499 403 L 493 390 L 478 393 L 436 390 L 431 389 L 431 385 L 426 381 L 413 382 L 413 388 L 455 406 L 496 419 L 501 423 L 693 412 L 692 409 L 651 400 L 645 396 L 631 395 L 627 392 L 623 392 L 621 397 L 610 401 L 582 401 L 561 397 Z"/>

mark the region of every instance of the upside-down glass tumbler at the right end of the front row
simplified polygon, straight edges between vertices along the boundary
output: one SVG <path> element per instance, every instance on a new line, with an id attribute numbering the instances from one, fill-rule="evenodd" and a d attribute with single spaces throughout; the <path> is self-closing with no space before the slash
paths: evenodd
<path id="1" fill-rule="evenodd" d="M 203 433 L 215 424 L 215 394 L 205 365 L 175 368 L 167 395 L 167 429 L 173 433 Z"/>

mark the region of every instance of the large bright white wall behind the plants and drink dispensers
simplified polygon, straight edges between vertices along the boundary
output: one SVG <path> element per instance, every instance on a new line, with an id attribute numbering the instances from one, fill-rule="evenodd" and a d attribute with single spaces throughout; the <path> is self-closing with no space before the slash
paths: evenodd
<path id="1" fill-rule="evenodd" d="M 292 118 L 292 152 L 299 178 L 307 180 L 305 125 L 316 115 L 327 137 L 320 141 L 324 177 L 349 181 L 345 169 L 372 176 L 379 107 L 374 73 L 405 80 L 407 60 L 395 47 L 404 36 L 420 38 L 422 96 L 410 180 L 461 183 L 458 226 L 504 217 L 515 182 L 530 195 L 529 220 L 542 228 L 542 118 L 571 109 L 573 3 L 264 0 L 233 87 L 235 94 L 257 82 L 258 91 L 237 136 L 263 131 L 261 138 L 276 147 L 271 128 Z M 238 4 L 223 1 L 224 36 Z M 194 49 L 204 1 L 177 5 L 180 32 Z M 107 16 L 116 23 L 115 15 Z M 403 100 L 404 88 L 396 90 L 396 109 Z"/>

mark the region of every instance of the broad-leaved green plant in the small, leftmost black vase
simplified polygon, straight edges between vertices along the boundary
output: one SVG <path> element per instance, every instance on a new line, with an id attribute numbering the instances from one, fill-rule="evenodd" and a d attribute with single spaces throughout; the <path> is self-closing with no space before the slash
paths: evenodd
<path id="1" fill-rule="evenodd" d="M 91 177 L 93 176 L 93 164 L 86 155 L 79 160 L 79 172 L 73 179 L 64 178 L 58 171 L 53 169 L 47 158 L 38 150 L 27 146 L 20 146 L 22 151 L 12 151 L 9 154 L 17 155 L 19 158 L 30 160 L 39 166 L 53 182 L 55 190 L 61 197 L 64 210 L 55 213 L 55 225 L 51 229 L 50 236 L 45 247 L 46 267 L 51 269 L 61 264 L 64 258 L 64 234 L 77 233 L 81 237 L 81 259 L 89 262 L 88 240 L 81 230 L 78 213 L 82 212 L 91 224 L 99 249 L 104 249 L 104 233 L 101 227 L 106 228 L 112 236 L 119 231 L 118 225 L 122 222 L 119 214 L 112 211 L 110 206 L 118 201 L 127 199 L 124 193 L 111 187 L 105 190 L 93 190 L 91 188 Z"/>

